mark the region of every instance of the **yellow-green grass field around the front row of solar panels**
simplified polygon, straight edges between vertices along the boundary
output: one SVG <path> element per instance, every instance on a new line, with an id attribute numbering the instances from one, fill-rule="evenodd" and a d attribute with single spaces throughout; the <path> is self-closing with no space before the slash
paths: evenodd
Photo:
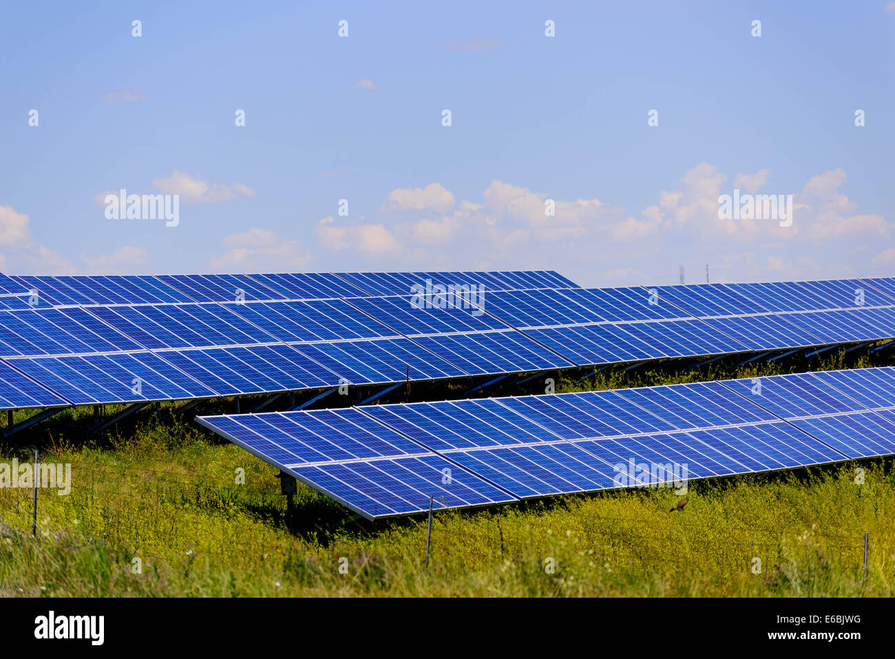
<path id="1" fill-rule="evenodd" d="M 706 375 L 729 373 L 636 383 Z M 439 512 L 427 571 L 425 518 L 371 524 L 300 485 L 291 535 L 274 467 L 151 415 L 84 441 L 88 416 L 0 451 L 25 461 L 38 445 L 42 462 L 72 464 L 69 495 L 38 493 L 37 538 L 32 491 L 0 489 L 0 595 L 895 595 L 887 460 L 695 481 L 682 513 L 667 489 Z"/>

